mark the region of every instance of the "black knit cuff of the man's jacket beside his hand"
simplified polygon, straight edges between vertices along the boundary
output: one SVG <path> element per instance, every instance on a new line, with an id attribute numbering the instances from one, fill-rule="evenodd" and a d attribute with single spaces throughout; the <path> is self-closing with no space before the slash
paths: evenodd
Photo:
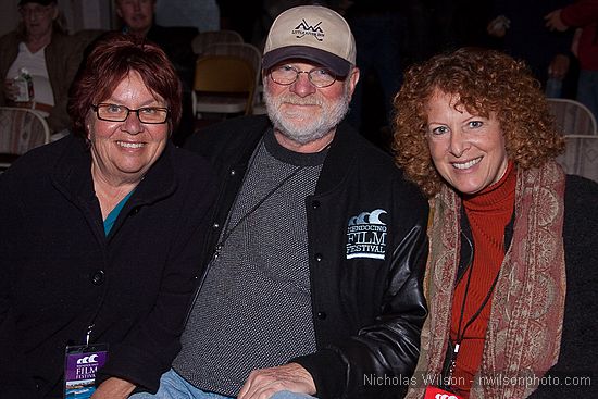
<path id="1" fill-rule="evenodd" d="M 289 360 L 306 369 L 315 383 L 315 396 L 320 399 L 339 398 L 347 387 L 349 366 L 341 356 L 332 349 Z"/>

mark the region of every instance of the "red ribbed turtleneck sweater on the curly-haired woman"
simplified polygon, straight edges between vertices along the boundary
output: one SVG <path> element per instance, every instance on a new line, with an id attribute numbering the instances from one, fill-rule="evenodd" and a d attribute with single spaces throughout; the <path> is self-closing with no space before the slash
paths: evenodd
<path id="1" fill-rule="evenodd" d="M 473 263 L 469 265 L 454 290 L 450 337 L 453 342 L 458 337 L 462 339 L 451 382 L 456 392 L 464 398 L 469 398 L 473 376 L 482 363 L 491 294 L 479 314 L 473 321 L 472 317 L 490 292 L 504 259 L 504 228 L 513 214 L 515 183 L 515 169 L 509 162 L 500 180 L 476 195 L 463 197 L 463 207 L 473 236 L 474 254 Z"/>

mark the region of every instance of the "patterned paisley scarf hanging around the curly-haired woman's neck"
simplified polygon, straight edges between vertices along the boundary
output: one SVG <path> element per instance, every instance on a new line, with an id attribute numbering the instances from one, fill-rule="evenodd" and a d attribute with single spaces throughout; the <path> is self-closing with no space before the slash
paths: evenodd
<path id="1" fill-rule="evenodd" d="M 493 294 L 481 369 L 471 399 L 526 398 L 557 363 L 564 315 L 564 173 L 555 162 L 518 171 L 513 238 Z M 461 199 L 445 186 L 434 199 L 426 269 L 429 316 L 407 398 L 441 375 L 460 251 Z M 497 384 L 497 379 L 501 378 Z M 434 384 L 434 383 L 433 383 Z"/>

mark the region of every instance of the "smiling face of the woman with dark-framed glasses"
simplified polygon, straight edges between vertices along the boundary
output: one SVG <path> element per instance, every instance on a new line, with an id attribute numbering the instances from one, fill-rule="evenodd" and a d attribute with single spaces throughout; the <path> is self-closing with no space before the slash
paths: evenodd
<path id="1" fill-rule="evenodd" d="M 101 101 L 125 105 L 130 110 L 167 108 L 161 97 L 154 97 L 135 71 L 125 76 L 112 95 Z M 158 160 L 169 138 L 170 123 L 145 124 L 130 112 L 124 122 L 98 119 L 94 111 L 87 115 L 88 138 L 91 141 L 95 176 L 113 183 L 139 182 Z"/>

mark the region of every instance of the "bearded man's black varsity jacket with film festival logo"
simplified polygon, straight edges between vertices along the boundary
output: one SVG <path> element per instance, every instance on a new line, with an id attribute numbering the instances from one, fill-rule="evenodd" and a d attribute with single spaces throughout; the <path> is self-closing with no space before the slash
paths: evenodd
<path id="1" fill-rule="evenodd" d="M 269 128 L 266 116 L 239 117 L 186 144 L 212 162 L 220 180 L 204 265 Z M 427 202 L 388 154 L 346 124 L 337 128 L 315 194 L 304 201 L 317 351 L 289 362 L 310 372 L 320 399 L 400 397 L 427 314 Z"/>

